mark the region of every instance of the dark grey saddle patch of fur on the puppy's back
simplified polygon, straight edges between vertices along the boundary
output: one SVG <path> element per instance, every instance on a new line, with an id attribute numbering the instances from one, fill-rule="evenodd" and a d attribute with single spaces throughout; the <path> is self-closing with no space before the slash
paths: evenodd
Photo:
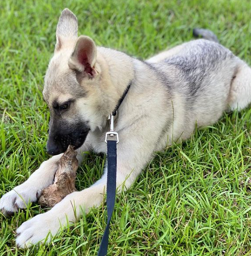
<path id="1" fill-rule="evenodd" d="M 178 70 L 175 79 L 179 83 L 175 82 L 175 87 L 180 93 L 186 93 L 191 103 L 210 85 L 208 79 L 212 80 L 224 61 L 232 58 L 234 54 L 222 45 L 201 39 L 186 43 L 180 54 L 164 60 L 164 65 Z"/>

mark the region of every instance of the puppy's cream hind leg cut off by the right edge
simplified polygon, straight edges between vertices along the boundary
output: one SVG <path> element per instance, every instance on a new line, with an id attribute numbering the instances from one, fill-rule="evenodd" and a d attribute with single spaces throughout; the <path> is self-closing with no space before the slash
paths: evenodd
<path id="1" fill-rule="evenodd" d="M 251 68 L 242 60 L 233 77 L 228 105 L 230 111 L 242 110 L 251 103 Z"/>

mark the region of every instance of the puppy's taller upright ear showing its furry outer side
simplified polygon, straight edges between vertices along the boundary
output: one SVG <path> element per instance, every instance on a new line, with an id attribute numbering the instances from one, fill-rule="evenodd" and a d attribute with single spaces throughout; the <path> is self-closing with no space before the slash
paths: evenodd
<path id="1" fill-rule="evenodd" d="M 56 36 L 55 51 L 59 51 L 67 41 L 78 38 L 78 19 L 69 9 L 64 9 L 59 17 Z"/>

